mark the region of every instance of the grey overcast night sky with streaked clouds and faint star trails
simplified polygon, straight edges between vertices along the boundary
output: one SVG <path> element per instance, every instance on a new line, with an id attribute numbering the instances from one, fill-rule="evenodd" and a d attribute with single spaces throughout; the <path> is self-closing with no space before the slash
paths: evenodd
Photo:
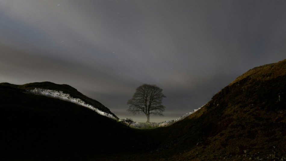
<path id="1" fill-rule="evenodd" d="M 247 70 L 286 59 L 286 1 L 0 0 L 0 82 L 68 84 L 115 113 L 143 84 L 164 117 L 207 103 Z"/>

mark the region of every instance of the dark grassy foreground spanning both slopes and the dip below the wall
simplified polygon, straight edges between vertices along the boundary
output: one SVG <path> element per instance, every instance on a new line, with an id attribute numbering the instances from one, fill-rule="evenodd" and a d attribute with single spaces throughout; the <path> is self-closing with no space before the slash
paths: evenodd
<path id="1" fill-rule="evenodd" d="M 0 154 L 3 160 L 285 160 L 285 82 L 286 60 L 256 67 L 199 111 L 155 129 L 128 128 L 23 92 L 28 85 L 2 83 Z M 54 89 L 73 89 L 61 88 Z"/>

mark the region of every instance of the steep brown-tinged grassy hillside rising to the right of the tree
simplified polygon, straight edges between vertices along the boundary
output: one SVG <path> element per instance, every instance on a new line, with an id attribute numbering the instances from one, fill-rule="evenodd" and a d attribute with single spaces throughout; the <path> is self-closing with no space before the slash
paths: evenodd
<path id="1" fill-rule="evenodd" d="M 286 60 L 249 70 L 168 128 L 177 141 L 158 159 L 285 160 Z"/>

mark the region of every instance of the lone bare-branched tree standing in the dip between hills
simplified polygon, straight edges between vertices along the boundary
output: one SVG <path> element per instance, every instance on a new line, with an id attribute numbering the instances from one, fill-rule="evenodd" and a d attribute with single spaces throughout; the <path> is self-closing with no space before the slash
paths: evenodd
<path id="1" fill-rule="evenodd" d="M 147 122 L 150 120 L 150 114 L 163 116 L 162 112 L 165 111 L 165 106 L 161 104 L 163 97 L 166 96 L 162 91 L 163 89 L 157 85 L 140 85 L 133 97 L 127 101 L 127 105 L 130 105 L 127 111 L 132 114 L 144 113 Z"/>

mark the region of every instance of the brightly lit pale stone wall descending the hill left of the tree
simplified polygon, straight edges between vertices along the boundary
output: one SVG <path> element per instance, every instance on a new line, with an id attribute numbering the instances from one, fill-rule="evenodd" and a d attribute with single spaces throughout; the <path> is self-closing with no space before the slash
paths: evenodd
<path id="1" fill-rule="evenodd" d="M 75 103 L 77 105 L 81 105 L 83 107 L 92 109 L 93 111 L 95 111 L 98 114 L 101 114 L 103 116 L 116 119 L 112 114 L 108 114 L 106 112 L 103 112 L 103 111 L 93 107 L 92 105 L 86 104 L 81 99 L 73 98 L 72 96 L 70 96 L 70 94 L 63 93 L 62 91 L 55 91 L 55 90 L 50 90 L 50 89 L 39 89 L 39 88 L 27 89 L 26 91 L 29 92 L 29 93 L 33 93 L 33 94 L 45 95 L 45 96 L 48 96 L 48 97 L 53 97 L 53 98 L 58 98 L 58 99 L 61 99 L 61 100 L 64 100 L 64 101 L 69 101 L 69 102 Z"/>

